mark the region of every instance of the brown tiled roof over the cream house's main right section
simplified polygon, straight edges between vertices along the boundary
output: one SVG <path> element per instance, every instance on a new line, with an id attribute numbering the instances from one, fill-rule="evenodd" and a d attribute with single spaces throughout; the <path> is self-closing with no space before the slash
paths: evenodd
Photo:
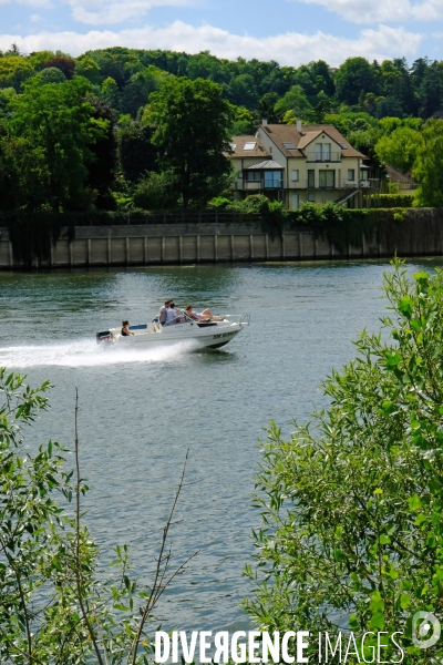
<path id="1" fill-rule="evenodd" d="M 327 134 L 336 143 L 347 145 L 346 149 L 340 147 L 343 157 L 367 158 L 365 155 L 353 149 L 333 125 L 303 125 L 300 133 L 297 131 L 297 125 L 285 124 L 262 125 L 261 130 L 268 134 L 269 139 L 287 157 L 303 157 L 305 154 L 301 151 L 320 134 Z M 288 150 L 284 143 L 292 143 L 296 150 Z"/>

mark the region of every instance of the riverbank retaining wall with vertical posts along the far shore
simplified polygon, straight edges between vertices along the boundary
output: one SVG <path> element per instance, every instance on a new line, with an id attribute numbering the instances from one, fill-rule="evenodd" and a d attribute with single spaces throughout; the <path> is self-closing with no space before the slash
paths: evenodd
<path id="1" fill-rule="evenodd" d="M 76 226 L 42 267 L 148 266 L 267 260 L 337 260 L 443 255 L 443 209 L 404 209 L 398 221 L 359 224 L 359 242 L 333 242 L 327 229 L 295 226 L 274 237 L 256 223 Z M 344 236 L 343 236 L 344 237 Z M 0 228 L 0 269 L 20 269 L 8 229 Z"/>

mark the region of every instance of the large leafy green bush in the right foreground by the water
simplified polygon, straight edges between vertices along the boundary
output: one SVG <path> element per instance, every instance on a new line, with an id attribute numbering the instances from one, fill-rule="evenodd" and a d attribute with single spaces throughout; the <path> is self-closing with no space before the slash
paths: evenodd
<path id="1" fill-rule="evenodd" d="M 411 279 L 395 262 L 384 289 L 383 335 L 360 335 L 323 383 L 329 406 L 290 440 L 268 431 L 246 607 L 266 631 L 372 631 L 352 663 L 373 662 L 378 632 L 403 631 L 403 662 L 425 665 L 443 655 L 411 642 L 412 614 L 443 601 L 443 273 Z M 382 652 L 400 662 L 392 642 Z"/>

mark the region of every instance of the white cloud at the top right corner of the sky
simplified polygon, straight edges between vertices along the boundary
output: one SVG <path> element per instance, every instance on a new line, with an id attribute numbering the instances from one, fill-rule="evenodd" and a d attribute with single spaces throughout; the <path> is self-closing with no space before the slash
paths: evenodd
<path id="1" fill-rule="evenodd" d="M 321 4 L 352 23 L 400 23 L 406 20 L 434 21 L 443 18 L 443 0 L 301 0 Z"/>

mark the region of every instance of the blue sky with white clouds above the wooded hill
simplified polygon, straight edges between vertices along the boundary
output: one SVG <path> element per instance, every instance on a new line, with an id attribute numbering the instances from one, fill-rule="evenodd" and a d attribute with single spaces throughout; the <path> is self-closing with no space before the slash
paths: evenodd
<path id="1" fill-rule="evenodd" d="M 338 66 L 443 60 L 443 0 L 0 0 L 0 50 L 106 47 Z"/>

